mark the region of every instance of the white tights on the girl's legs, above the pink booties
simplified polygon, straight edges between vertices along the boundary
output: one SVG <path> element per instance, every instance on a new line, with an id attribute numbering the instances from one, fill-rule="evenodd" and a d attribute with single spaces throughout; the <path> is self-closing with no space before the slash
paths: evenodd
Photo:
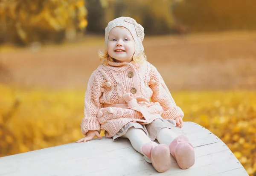
<path id="1" fill-rule="evenodd" d="M 132 147 L 134 147 L 134 149 L 137 150 L 140 153 L 142 153 L 141 148 L 144 144 L 147 144 L 149 142 L 153 142 L 155 145 L 157 145 L 157 143 L 154 142 L 154 141 L 151 141 L 151 139 L 148 138 L 146 133 L 140 128 L 131 127 L 127 130 L 126 134 L 122 137 L 123 138 L 128 138 L 131 141 Z M 157 141 L 160 144 L 167 144 L 168 146 L 171 144 L 171 142 L 176 137 L 177 137 L 177 134 L 174 133 L 169 128 L 162 128 L 157 133 Z"/>

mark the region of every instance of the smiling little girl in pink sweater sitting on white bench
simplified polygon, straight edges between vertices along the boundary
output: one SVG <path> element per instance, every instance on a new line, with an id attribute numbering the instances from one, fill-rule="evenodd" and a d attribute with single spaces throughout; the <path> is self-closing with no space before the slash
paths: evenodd
<path id="1" fill-rule="evenodd" d="M 182 169 L 195 163 L 192 144 L 171 129 L 183 126 L 177 107 L 157 69 L 146 61 L 144 28 L 131 17 L 119 17 L 105 29 L 103 61 L 90 76 L 84 100 L 81 131 L 76 142 L 102 138 L 128 138 L 158 172 L 171 167 L 171 155 Z M 151 101 L 149 99 L 151 98 Z M 154 142 L 154 140 L 160 143 Z"/>

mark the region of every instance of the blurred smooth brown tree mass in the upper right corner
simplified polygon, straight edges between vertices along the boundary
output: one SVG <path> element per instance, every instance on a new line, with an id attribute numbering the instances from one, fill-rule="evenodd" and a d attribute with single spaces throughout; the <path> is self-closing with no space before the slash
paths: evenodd
<path id="1" fill-rule="evenodd" d="M 255 30 L 255 0 L 184 0 L 174 9 L 191 32 Z"/>

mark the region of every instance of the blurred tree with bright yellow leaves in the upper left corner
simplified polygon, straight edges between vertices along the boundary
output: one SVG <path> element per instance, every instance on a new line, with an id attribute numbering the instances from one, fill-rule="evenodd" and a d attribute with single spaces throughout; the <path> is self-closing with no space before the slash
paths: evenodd
<path id="1" fill-rule="evenodd" d="M 5 0 L 0 14 L 2 38 L 20 45 L 72 40 L 87 26 L 83 0 Z"/>

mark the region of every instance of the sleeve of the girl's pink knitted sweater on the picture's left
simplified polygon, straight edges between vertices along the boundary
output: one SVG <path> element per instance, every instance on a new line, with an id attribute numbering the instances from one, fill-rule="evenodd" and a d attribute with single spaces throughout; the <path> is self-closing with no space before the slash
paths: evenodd
<path id="1" fill-rule="evenodd" d="M 99 109 L 102 107 L 99 102 L 99 98 L 102 95 L 100 87 L 99 78 L 96 72 L 93 72 L 88 81 L 84 98 L 84 118 L 81 122 L 81 131 L 84 135 L 93 130 L 97 130 L 100 133 L 100 124 L 97 118 Z"/>

